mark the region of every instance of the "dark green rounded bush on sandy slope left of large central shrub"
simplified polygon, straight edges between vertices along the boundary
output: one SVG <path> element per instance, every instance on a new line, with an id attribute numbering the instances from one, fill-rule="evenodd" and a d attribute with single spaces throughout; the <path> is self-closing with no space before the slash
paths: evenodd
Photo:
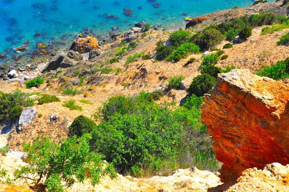
<path id="1" fill-rule="evenodd" d="M 92 130 L 96 127 L 94 121 L 88 119 L 84 115 L 77 116 L 72 124 L 70 125 L 70 130 L 68 132 L 68 136 L 72 137 L 76 135 L 77 137 L 81 137 L 86 133 L 92 132 Z"/>

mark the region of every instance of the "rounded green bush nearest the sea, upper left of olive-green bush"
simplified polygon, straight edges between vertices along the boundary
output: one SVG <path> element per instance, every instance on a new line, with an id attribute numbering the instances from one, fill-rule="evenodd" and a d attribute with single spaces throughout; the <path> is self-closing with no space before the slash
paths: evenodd
<path id="1" fill-rule="evenodd" d="M 190 42 L 191 36 L 191 32 L 179 30 L 173 32 L 168 38 L 168 40 L 170 41 L 171 45 L 178 47 L 181 44 Z"/>

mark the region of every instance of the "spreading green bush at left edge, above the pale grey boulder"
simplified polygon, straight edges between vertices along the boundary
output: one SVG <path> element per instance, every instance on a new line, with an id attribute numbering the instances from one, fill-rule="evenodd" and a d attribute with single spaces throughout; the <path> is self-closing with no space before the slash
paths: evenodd
<path id="1" fill-rule="evenodd" d="M 11 93 L 3 93 L 0 91 L 0 121 L 10 120 L 9 114 L 15 106 L 32 107 L 34 100 L 29 98 L 30 94 L 22 93 L 20 89 L 16 89 Z"/>

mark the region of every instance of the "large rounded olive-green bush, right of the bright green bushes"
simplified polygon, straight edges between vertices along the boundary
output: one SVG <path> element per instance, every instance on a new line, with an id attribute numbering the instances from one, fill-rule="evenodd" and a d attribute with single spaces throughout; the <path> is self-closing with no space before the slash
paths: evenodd
<path id="1" fill-rule="evenodd" d="M 203 33 L 194 34 L 192 42 L 199 45 L 200 49 L 210 48 L 220 43 L 225 36 L 216 29 L 206 29 Z"/>

